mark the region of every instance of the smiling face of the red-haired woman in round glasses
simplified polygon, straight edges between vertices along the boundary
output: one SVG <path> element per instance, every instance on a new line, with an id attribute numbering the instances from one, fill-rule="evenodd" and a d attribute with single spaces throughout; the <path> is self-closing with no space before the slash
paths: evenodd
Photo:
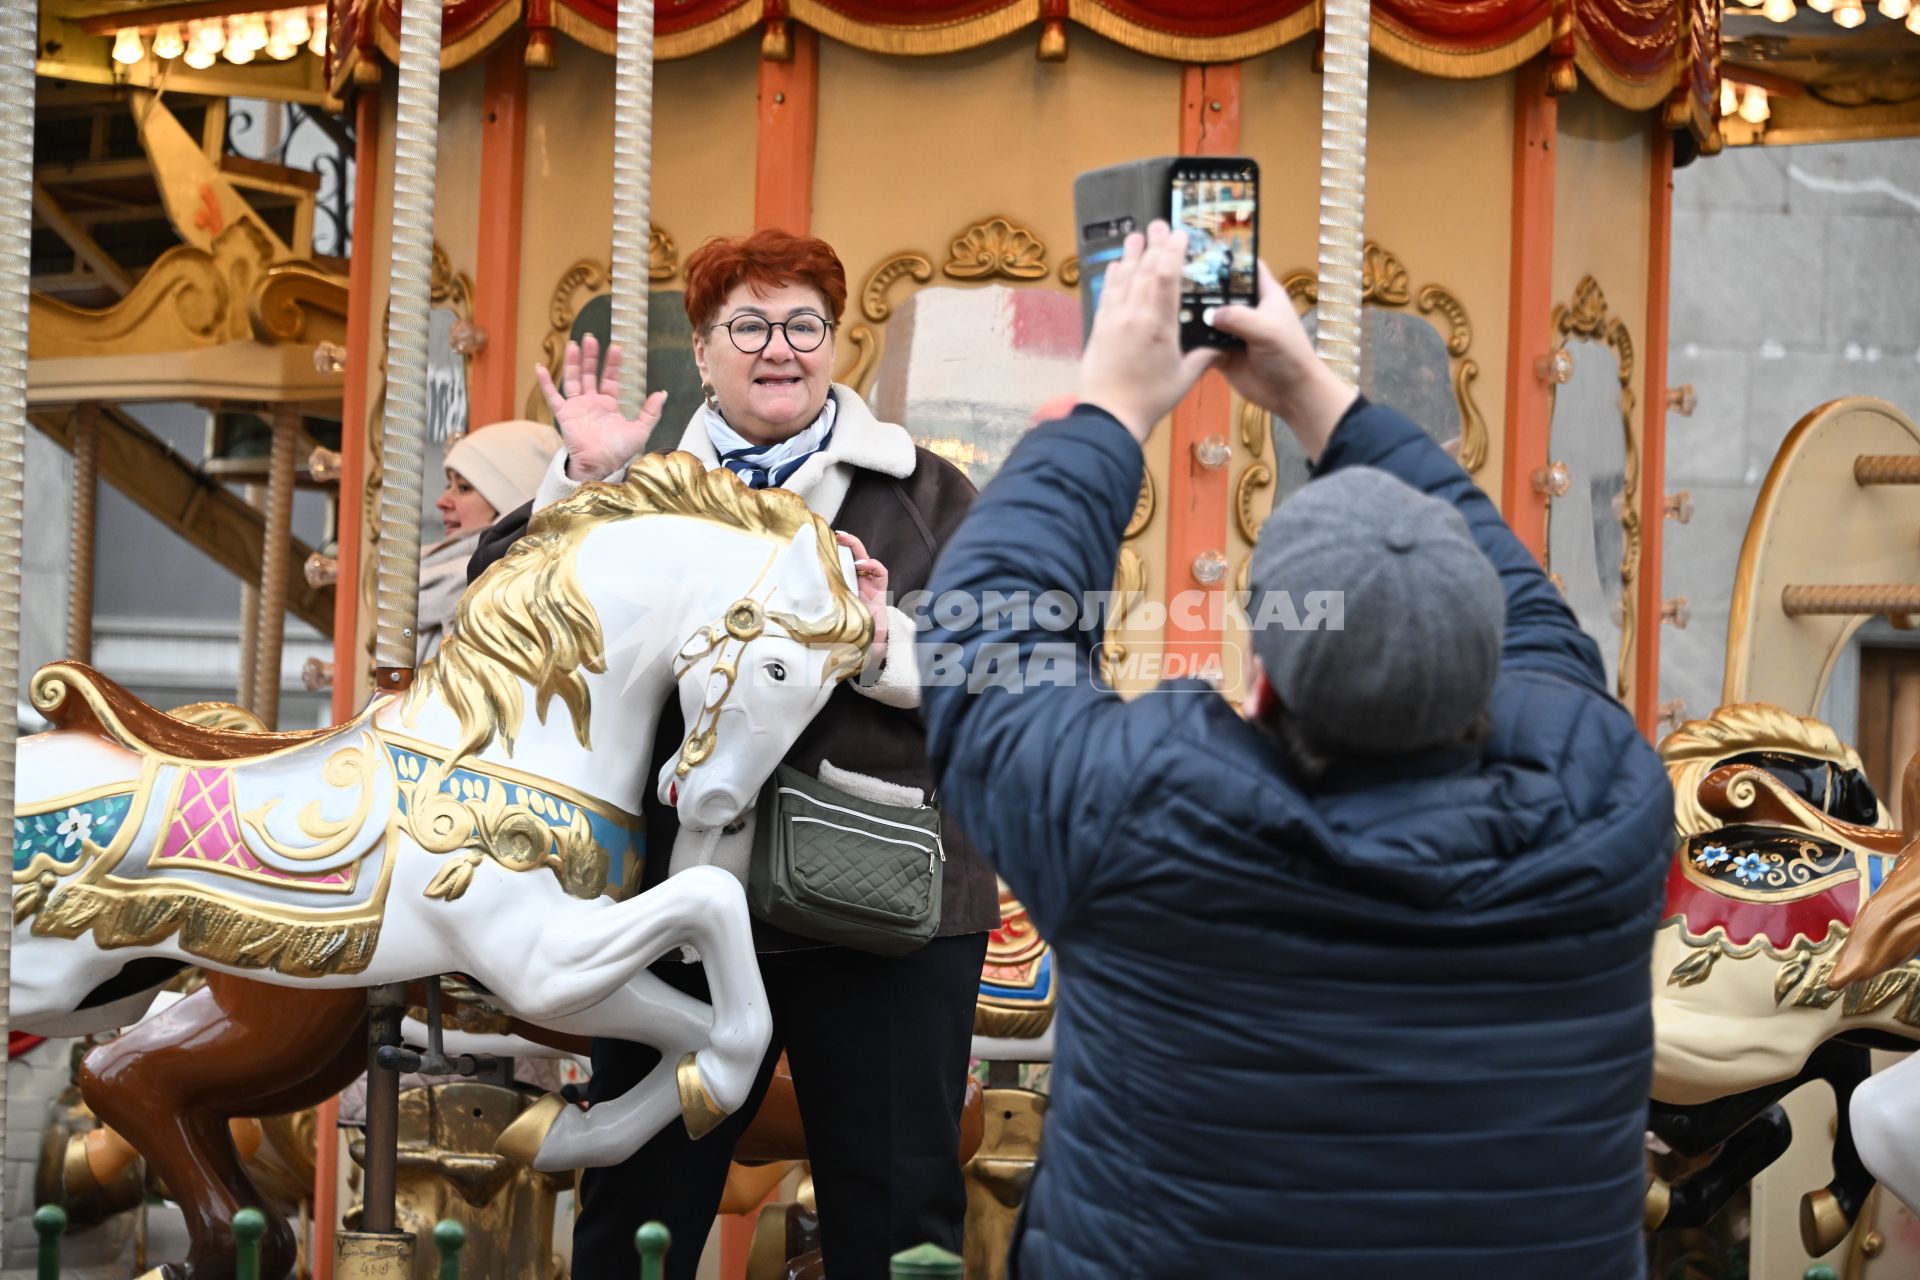
<path id="1" fill-rule="evenodd" d="M 833 330 L 812 351 L 795 351 L 787 332 L 776 328 L 766 349 L 747 353 L 718 326 L 735 317 L 791 320 L 803 315 L 828 322 L 833 309 L 820 290 L 806 284 L 783 284 L 772 292 L 739 284 L 708 317 L 707 328 L 693 334 L 693 363 L 701 380 L 712 386 L 720 416 L 756 445 L 787 439 L 820 416 L 833 386 Z"/>

